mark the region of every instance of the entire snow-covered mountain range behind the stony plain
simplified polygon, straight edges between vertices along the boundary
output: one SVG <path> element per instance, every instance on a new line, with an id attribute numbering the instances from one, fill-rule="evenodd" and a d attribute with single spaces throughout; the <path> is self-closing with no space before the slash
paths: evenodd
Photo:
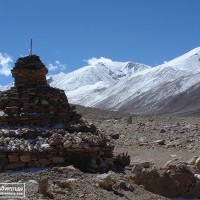
<path id="1" fill-rule="evenodd" d="M 105 59 L 49 78 L 69 102 L 134 114 L 200 115 L 200 47 L 156 67 Z"/>

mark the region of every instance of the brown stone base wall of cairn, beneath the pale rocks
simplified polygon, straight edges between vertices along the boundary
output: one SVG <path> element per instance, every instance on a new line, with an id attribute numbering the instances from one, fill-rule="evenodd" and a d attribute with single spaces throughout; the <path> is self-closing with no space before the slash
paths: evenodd
<path id="1" fill-rule="evenodd" d="M 0 154 L 0 170 L 74 165 L 86 172 L 106 172 L 113 166 L 112 155 L 109 152 L 109 148 L 96 147 L 54 153 L 4 152 Z M 108 157 L 102 159 L 101 154 L 107 154 Z"/>

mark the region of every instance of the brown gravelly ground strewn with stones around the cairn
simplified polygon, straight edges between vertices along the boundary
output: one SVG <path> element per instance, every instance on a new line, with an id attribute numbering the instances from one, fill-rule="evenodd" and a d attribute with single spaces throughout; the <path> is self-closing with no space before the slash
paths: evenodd
<path id="1" fill-rule="evenodd" d="M 135 164 L 159 169 L 168 161 L 177 165 L 194 156 L 200 157 L 198 117 L 130 116 L 81 106 L 77 106 L 77 111 L 110 138 L 115 154 L 128 152 L 131 157 L 131 164 L 124 171 L 111 174 L 115 188 L 103 189 L 98 185 L 98 174 L 83 173 L 73 167 L 8 171 L 0 174 L 0 182 L 25 182 L 27 199 L 168 199 L 148 191 L 151 187 L 146 188 L 142 182 L 136 184 L 132 170 Z M 199 169 L 195 173 L 200 174 Z M 46 197 L 38 193 L 39 179 L 44 177 L 49 179 L 49 196 Z"/>

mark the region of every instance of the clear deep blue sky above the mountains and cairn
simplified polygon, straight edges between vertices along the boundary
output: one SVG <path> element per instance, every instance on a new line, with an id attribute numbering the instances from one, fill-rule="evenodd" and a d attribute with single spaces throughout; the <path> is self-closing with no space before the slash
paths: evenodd
<path id="1" fill-rule="evenodd" d="M 161 64 L 200 46 L 199 8 L 199 0 L 1 0 L 0 85 L 30 38 L 34 53 L 57 67 L 51 73 L 91 57 Z"/>

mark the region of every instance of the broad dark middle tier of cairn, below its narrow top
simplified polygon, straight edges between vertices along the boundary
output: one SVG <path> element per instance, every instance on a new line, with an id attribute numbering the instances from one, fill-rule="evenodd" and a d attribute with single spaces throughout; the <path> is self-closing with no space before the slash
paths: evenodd
<path id="1" fill-rule="evenodd" d="M 0 94 L 0 126 L 51 126 L 80 119 L 63 90 L 11 88 Z"/>

